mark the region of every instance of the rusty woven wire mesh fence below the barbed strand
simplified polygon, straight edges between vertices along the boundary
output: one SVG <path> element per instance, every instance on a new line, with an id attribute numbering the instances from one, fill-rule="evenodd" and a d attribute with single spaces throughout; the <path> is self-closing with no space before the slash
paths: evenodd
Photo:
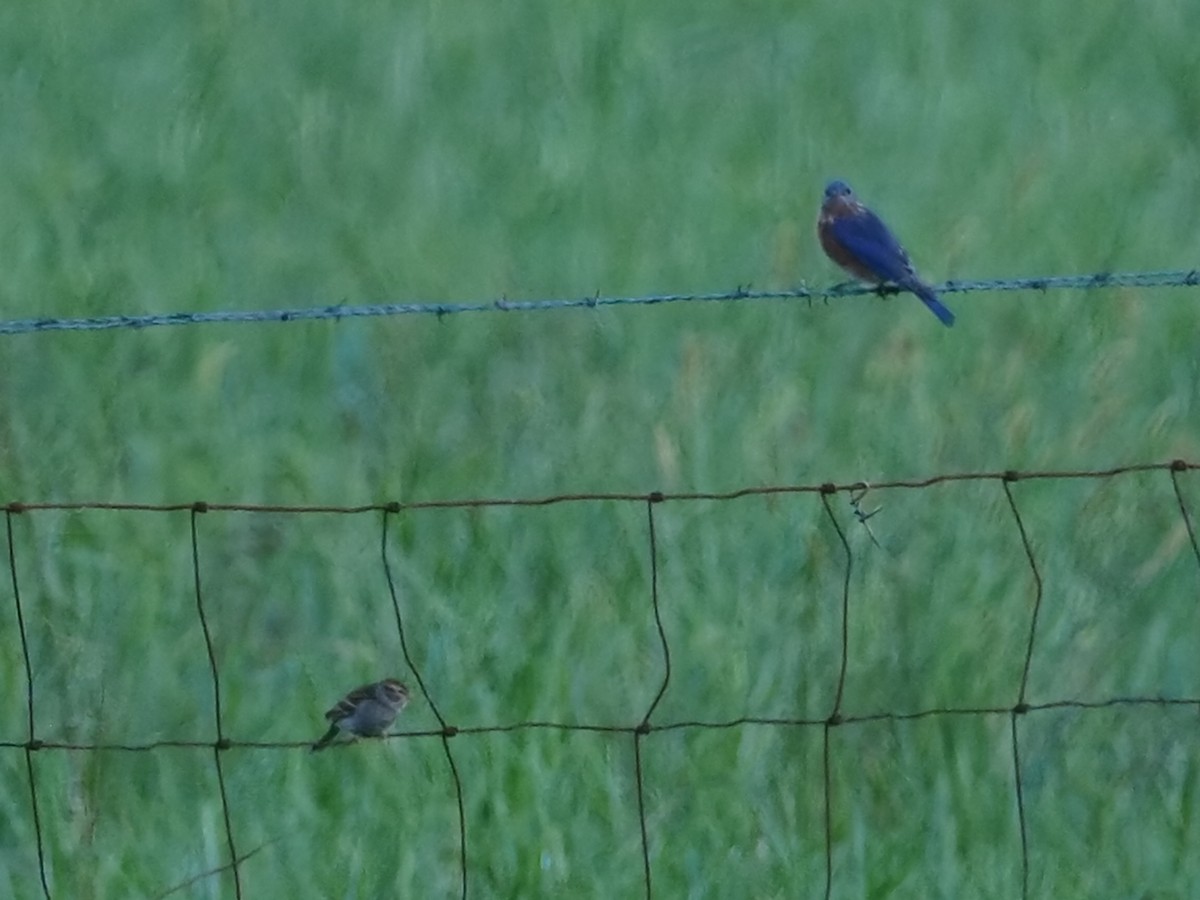
<path id="1" fill-rule="evenodd" d="M 256 504 L 139 504 L 139 503 L 19 503 L 11 502 L 5 506 L 6 536 L 8 552 L 8 568 L 11 576 L 11 594 L 18 624 L 20 654 L 24 662 L 25 673 L 25 719 L 28 737 L 24 740 L 0 740 L 0 748 L 19 749 L 24 752 L 25 770 L 28 776 L 29 803 L 34 833 L 37 842 L 37 864 L 41 877 L 41 888 L 46 898 L 52 896 L 49 880 L 47 876 L 47 862 L 44 848 L 44 829 L 47 824 L 42 817 L 42 803 L 38 794 L 38 780 L 34 757 L 54 750 L 96 751 L 96 750 L 124 750 L 130 752 L 152 752 L 163 748 L 200 748 L 210 749 L 212 754 L 212 768 L 220 792 L 221 810 L 223 815 L 223 838 L 228 860 L 215 869 L 199 872 L 187 881 L 166 889 L 160 896 L 168 896 L 185 889 L 205 877 L 216 877 L 228 872 L 233 880 L 234 895 L 241 898 L 247 894 L 244 883 L 242 865 L 247 859 L 260 852 L 264 846 L 259 845 L 251 850 L 242 847 L 235 834 L 233 816 L 230 812 L 230 796 L 227 787 L 226 773 L 222 768 L 223 755 L 234 749 L 256 749 L 264 751 L 290 751 L 307 749 L 310 742 L 254 742 L 233 739 L 228 736 L 222 720 L 223 696 L 222 696 L 222 672 L 217 664 L 217 655 L 214 650 L 212 632 L 206 613 L 206 601 L 204 583 L 202 580 L 202 554 L 199 550 L 198 520 L 205 514 L 214 511 L 240 511 L 240 512 L 272 512 L 272 514 L 344 514 L 344 515 L 378 515 L 379 516 L 379 563 L 385 576 L 385 582 L 391 601 L 391 611 L 395 618 L 395 628 L 400 637 L 401 650 L 404 661 L 412 671 L 420 694 L 428 704 L 430 710 L 437 719 L 438 727 L 433 731 L 410 731 L 394 734 L 397 738 L 438 738 L 445 756 L 446 776 L 454 785 L 457 803 L 457 845 L 458 845 L 458 883 L 461 895 L 466 898 L 470 887 L 470 835 L 468 834 L 468 818 L 466 812 L 464 785 L 460 774 L 460 763 L 456 758 L 455 743 L 470 736 L 499 734 L 528 731 L 552 730 L 559 732 L 583 732 L 583 733 L 607 733 L 626 737 L 632 744 L 634 772 L 632 779 L 636 786 L 637 815 L 641 829 L 641 858 L 643 866 L 644 893 L 647 898 L 655 896 L 654 871 L 652 865 L 652 844 L 655 835 L 648 827 L 646 787 L 648 775 L 643 766 L 643 743 L 650 736 L 661 732 L 680 730 L 728 730 L 745 726 L 773 726 L 787 728 L 811 728 L 818 730 L 822 736 L 822 760 L 823 760 L 823 821 L 824 821 L 824 887 L 826 898 L 832 895 L 836 874 L 834 869 L 834 814 L 838 805 L 838 796 L 834 791 L 834 779 L 832 774 L 834 749 L 832 736 L 838 728 L 862 725 L 876 721 L 913 721 L 930 718 L 967 718 L 978 719 L 986 716 L 1001 716 L 1008 720 L 1008 736 L 1010 742 L 1010 755 L 1013 767 L 1013 806 L 1015 812 L 1015 828 L 1020 836 L 1020 871 L 1021 871 L 1021 896 L 1028 898 L 1030 884 L 1030 833 L 1026 815 L 1026 763 L 1021 756 L 1021 725 L 1031 713 L 1043 710 L 1094 710 L 1110 707 L 1182 707 L 1200 710 L 1200 695 L 1198 696 L 1110 696 L 1099 700 L 1076 700 L 1062 697 L 1045 702 L 1032 703 L 1028 700 L 1030 668 L 1034 658 L 1034 648 L 1039 635 L 1039 614 L 1043 607 L 1043 563 L 1039 562 L 1034 552 L 1033 544 L 1026 528 L 1026 520 L 1021 511 L 1021 503 L 1018 499 L 1019 491 L 1014 486 L 1030 481 L 1068 481 L 1090 480 L 1100 481 L 1108 479 L 1120 479 L 1138 473 L 1163 473 L 1170 480 L 1174 502 L 1182 527 L 1190 545 L 1192 557 L 1195 560 L 1198 572 L 1200 572 L 1200 541 L 1196 538 L 1196 528 L 1193 514 L 1184 499 L 1181 488 L 1181 476 L 1200 469 L 1200 463 L 1175 460 L 1163 463 L 1150 463 L 1138 466 L 1121 466 L 1102 470 L 1042 470 L 1042 472 L 979 472 L 962 474 L 942 474 L 920 480 L 895 480 L 876 482 L 870 485 L 871 490 L 912 490 L 920 491 L 935 485 L 950 482 L 983 482 L 995 484 L 1003 493 L 1003 505 L 1010 518 L 1015 535 L 1019 538 L 1024 556 L 1024 566 L 1032 580 L 1032 596 L 1028 608 L 1028 625 L 1026 640 L 1024 642 L 1024 665 L 1018 684 L 1013 688 L 1013 701 L 1009 704 L 992 707 L 932 707 L 917 710 L 892 710 L 862 715 L 847 715 L 844 713 L 844 696 L 846 685 L 847 665 L 851 658 L 850 634 L 851 619 L 854 610 L 852 602 L 852 572 L 856 565 L 856 552 L 848 539 L 848 529 L 856 523 L 866 526 L 872 515 L 862 509 L 862 498 L 868 485 L 856 484 L 808 484 L 808 485 L 779 485 L 763 487 L 746 487 L 728 492 L 689 492 L 689 493 L 575 493 L 556 494 L 535 498 L 474 498 L 474 499 L 446 499 L 426 500 L 415 503 L 386 503 L 358 506 L 295 506 L 295 505 L 256 505 Z M 672 644 L 664 626 L 662 611 L 659 599 L 659 538 L 656 533 L 656 510 L 664 504 L 679 504 L 696 500 L 726 502 L 752 496 L 772 494 L 814 494 L 820 498 L 823 509 L 823 517 L 835 538 L 834 546 L 841 548 L 844 563 L 840 580 L 840 650 L 838 654 L 839 667 L 836 676 L 836 689 L 834 700 L 827 714 L 820 718 L 758 718 L 742 716 L 728 720 L 684 720 L 684 721 L 655 721 L 655 712 L 666 694 L 672 676 Z M 850 499 L 850 512 L 839 514 L 833 500 L 839 496 Z M 392 551 L 389 550 L 389 532 L 394 528 L 396 517 L 403 512 L 428 509 L 472 509 L 490 506 L 530 506 L 544 508 L 557 504 L 586 504 L 602 502 L 623 502 L 637 504 L 644 509 L 646 532 L 644 552 L 649 560 L 649 584 L 647 589 L 647 604 L 653 614 L 656 631 L 658 647 L 661 659 L 661 679 L 644 713 L 637 721 L 626 725 L 601 725 L 601 724 L 570 724 L 562 721 L 515 721 L 498 725 L 463 725 L 452 722 L 444 714 L 437 703 L 433 690 L 425 678 L 416 655 L 409 643 L 409 626 L 400 601 L 396 576 L 394 572 Z M 180 512 L 190 514 L 191 534 L 191 569 L 196 600 L 197 620 L 203 632 L 204 644 L 208 654 L 209 671 L 212 685 L 212 739 L 211 740 L 156 740 L 149 743 L 65 743 L 54 740 L 42 740 L 37 737 L 37 696 L 35 692 L 34 665 L 31 661 L 28 622 L 22 601 L 22 584 L 18 578 L 18 553 L 14 541 L 14 520 L 18 516 L 36 515 L 49 510 L 134 510 L 146 514 Z M 872 534 L 874 540 L 874 534 Z M 1200 593 L 1200 592 L 1198 592 Z M 269 841 L 269 844 L 272 841 Z"/>

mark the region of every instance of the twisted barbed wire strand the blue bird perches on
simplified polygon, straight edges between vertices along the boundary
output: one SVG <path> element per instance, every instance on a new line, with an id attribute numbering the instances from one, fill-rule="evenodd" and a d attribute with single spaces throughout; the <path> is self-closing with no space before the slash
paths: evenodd
<path id="1" fill-rule="evenodd" d="M 954 280 L 934 288 L 942 294 L 968 294 L 1010 290 L 1094 290 L 1099 288 L 1163 288 L 1200 286 L 1200 269 L 1174 269 L 1152 272 L 1091 272 L 1087 275 L 1046 275 L 1025 278 Z M 895 294 L 899 288 L 864 284 L 838 284 L 830 288 L 799 286 L 785 290 L 754 290 L 737 287 L 713 293 L 646 294 L 641 296 L 550 298 L 510 300 L 506 296 L 474 302 L 395 302 L 331 304 L 276 310 L 223 310 L 214 312 L 138 313 L 126 316 L 41 317 L 0 320 L 0 335 L 24 335 L 37 331 L 103 331 L 139 329 L 155 325 L 205 325 L 252 322 L 318 322 L 326 319 L 373 318 L 380 316 L 454 316 L 467 312 L 545 312 L 550 310 L 594 310 L 604 306 L 653 306 L 685 302 L 736 302 L 754 300 L 805 300 L 828 302 L 864 294 Z"/>

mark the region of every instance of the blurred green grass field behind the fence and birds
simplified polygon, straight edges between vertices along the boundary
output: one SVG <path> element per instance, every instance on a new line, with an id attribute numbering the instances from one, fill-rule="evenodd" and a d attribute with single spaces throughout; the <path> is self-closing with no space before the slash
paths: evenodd
<path id="1" fill-rule="evenodd" d="M 721 290 L 840 276 L 845 178 L 934 281 L 1194 266 L 1194 4 L 13 2 L 0 8 L 6 317 Z M 354 504 L 726 490 L 1200 458 L 1187 290 L 673 305 L 0 342 L 2 498 Z M 1182 479 L 1193 510 L 1200 487 Z M 1014 487 L 1045 577 L 1032 702 L 1200 694 L 1163 474 Z M 845 510 L 848 511 L 848 510 Z M 820 500 L 656 510 L 655 721 L 822 716 L 841 545 Z M 450 721 L 634 724 L 661 677 L 644 509 L 403 516 L 413 650 Z M 1032 584 L 998 486 L 851 532 L 845 710 L 1014 702 Z M 403 671 L 378 518 L 210 514 L 235 739 L 299 740 Z M 187 516 L 14 520 L 43 739 L 209 739 Z M 0 737 L 25 738 L 0 604 Z M 414 702 L 412 730 L 434 720 Z M 1194 896 L 1195 713 L 1022 720 L 1034 896 Z M 643 744 L 656 896 L 818 896 L 821 736 Z M 626 738 L 462 737 L 474 896 L 640 896 Z M 1010 898 L 1002 718 L 834 733 L 839 898 Z M 226 755 L 247 896 L 454 896 L 437 740 Z M 35 756 L 55 896 L 226 860 L 211 754 Z M 0 894 L 41 895 L 23 752 Z M 1190 848 L 1190 850 L 1189 850 Z M 180 895 L 232 896 L 228 875 Z"/>

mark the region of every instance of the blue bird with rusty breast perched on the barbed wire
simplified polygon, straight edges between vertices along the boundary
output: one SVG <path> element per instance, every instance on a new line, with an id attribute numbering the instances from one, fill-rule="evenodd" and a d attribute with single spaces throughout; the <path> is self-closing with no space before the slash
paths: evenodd
<path id="1" fill-rule="evenodd" d="M 943 325 L 954 324 L 954 313 L 918 277 L 900 241 L 878 216 L 858 202 L 845 181 L 830 181 L 826 186 L 817 218 L 817 238 L 826 256 L 856 278 L 872 284 L 892 283 L 910 290 Z"/>

